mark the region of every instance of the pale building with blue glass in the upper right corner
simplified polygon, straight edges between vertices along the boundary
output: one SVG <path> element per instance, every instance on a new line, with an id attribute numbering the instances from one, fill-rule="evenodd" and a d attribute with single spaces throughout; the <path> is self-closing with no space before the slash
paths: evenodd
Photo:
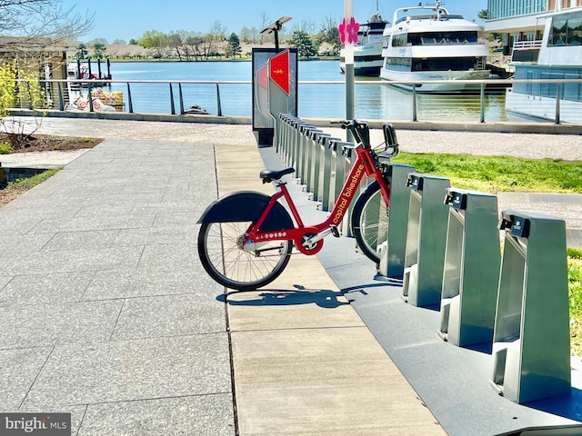
<path id="1" fill-rule="evenodd" d="M 502 35 L 503 53 L 516 42 L 540 41 L 548 12 L 582 6 L 582 0 L 487 0 L 485 31 Z"/>

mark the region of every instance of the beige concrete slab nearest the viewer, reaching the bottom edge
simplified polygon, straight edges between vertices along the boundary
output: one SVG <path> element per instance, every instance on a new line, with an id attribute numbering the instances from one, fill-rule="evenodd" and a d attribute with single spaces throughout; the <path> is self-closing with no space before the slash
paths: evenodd
<path id="1" fill-rule="evenodd" d="M 241 434 L 446 434 L 364 326 L 232 336 Z"/>

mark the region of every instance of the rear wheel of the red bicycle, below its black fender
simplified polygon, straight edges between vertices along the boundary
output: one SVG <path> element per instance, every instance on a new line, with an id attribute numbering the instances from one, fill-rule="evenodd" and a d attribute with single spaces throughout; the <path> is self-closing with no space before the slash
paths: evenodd
<path id="1" fill-rule="evenodd" d="M 273 282 L 289 263 L 293 243 L 242 244 L 250 222 L 203 223 L 198 233 L 198 254 L 208 275 L 237 291 L 252 291 Z"/>

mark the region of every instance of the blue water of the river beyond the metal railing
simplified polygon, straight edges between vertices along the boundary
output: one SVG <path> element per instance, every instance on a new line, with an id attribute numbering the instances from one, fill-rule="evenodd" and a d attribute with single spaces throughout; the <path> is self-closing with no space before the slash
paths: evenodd
<path id="1" fill-rule="evenodd" d="M 246 81 L 252 80 L 251 62 L 112 62 L 114 80 L 167 80 L 167 81 Z M 297 89 L 299 117 L 343 118 L 346 116 L 344 74 L 338 61 L 301 61 L 298 80 L 338 81 L 342 84 L 301 84 Z M 396 88 L 379 79 L 363 79 L 370 84 L 355 86 L 355 114 L 361 119 L 411 121 L 413 119 L 412 93 Z M 169 84 L 131 84 L 133 109 L 136 113 L 171 112 Z M 173 84 L 174 104 L 179 112 L 178 85 Z M 124 93 L 127 107 L 126 84 L 112 84 L 112 91 Z M 222 114 L 251 116 L 252 85 L 219 84 Z M 184 107 L 200 105 L 210 114 L 218 113 L 216 84 L 182 84 Z M 418 121 L 479 121 L 479 95 L 418 94 L 416 101 Z M 489 122 L 506 121 L 505 94 L 487 94 L 485 119 Z"/>

